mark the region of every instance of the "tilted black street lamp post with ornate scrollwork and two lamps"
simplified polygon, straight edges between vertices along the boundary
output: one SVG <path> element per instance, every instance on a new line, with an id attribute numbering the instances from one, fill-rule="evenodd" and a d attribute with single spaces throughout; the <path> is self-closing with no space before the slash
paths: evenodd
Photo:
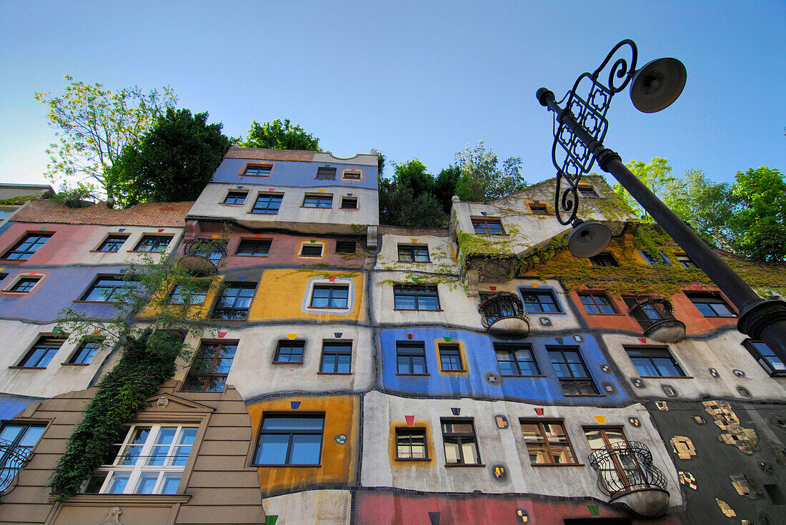
<path id="1" fill-rule="evenodd" d="M 627 57 L 619 57 L 612 63 L 618 52 L 629 52 L 630 63 Z M 645 113 L 653 113 L 677 100 L 685 86 L 685 66 L 679 60 L 652 60 L 637 70 L 637 55 L 635 42 L 628 39 L 619 42 L 600 67 L 592 73 L 579 75 L 573 89 L 559 102 L 549 89 L 538 89 L 538 101 L 555 115 L 552 146 L 552 160 L 557 170 L 554 207 L 560 224 L 572 224 L 575 228 L 568 248 L 577 257 L 592 257 L 603 251 L 611 240 L 603 224 L 582 223 L 576 218 L 578 183 L 582 174 L 589 173 L 597 160 L 601 170 L 611 173 L 685 250 L 696 266 L 729 297 L 740 312 L 737 329 L 753 339 L 764 341 L 786 363 L 786 302 L 758 297 L 706 242 L 626 168 L 619 154 L 603 144 L 608 129 L 606 113 L 615 93 L 630 84 L 630 98 L 634 106 Z M 608 67 L 608 83 L 604 84 L 601 75 L 609 64 L 612 65 Z M 582 96 L 580 93 L 586 94 Z M 561 108 L 563 101 L 564 108 Z"/>

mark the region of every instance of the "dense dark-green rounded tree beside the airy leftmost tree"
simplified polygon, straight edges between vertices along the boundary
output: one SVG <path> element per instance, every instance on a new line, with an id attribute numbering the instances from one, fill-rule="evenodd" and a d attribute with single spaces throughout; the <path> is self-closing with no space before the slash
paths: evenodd
<path id="1" fill-rule="evenodd" d="M 135 145 L 127 145 L 108 171 L 121 206 L 196 200 L 219 167 L 230 139 L 208 113 L 167 109 Z"/>

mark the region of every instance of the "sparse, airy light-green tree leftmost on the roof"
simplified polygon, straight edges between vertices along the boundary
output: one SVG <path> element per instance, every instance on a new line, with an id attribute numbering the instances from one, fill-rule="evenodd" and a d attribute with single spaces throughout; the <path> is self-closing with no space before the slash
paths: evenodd
<path id="1" fill-rule="evenodd" d="M 33 93 L 49 108 L 57 142 L 46 153 L 46 176 L 53 183 L 81 184 L 94 199 L 111 196 L 107 173 L 127 145 L 137 144 L 156 118 L 177 101 L 170 86 L 144 93 L 138 86 L 112 92 L 102 84 L 70 82 L 61 95 Z"/>

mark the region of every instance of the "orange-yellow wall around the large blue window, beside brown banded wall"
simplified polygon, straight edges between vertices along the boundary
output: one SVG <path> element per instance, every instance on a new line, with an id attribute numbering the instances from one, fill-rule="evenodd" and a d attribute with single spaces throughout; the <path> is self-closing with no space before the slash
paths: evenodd
<path id="1" fill-rule="evenodd" d="M 292 409 L 292 401 L 300 406 Z M 321 466 L 259 467 L 259 488 L 263 495 L 303 489 L 314 485 L 348 485 L 355 482 L 358 465 L 358 398 L 356 396 L 287 397 L 254 403 L 246 407 L 254 435 L 265 413 L 324 413 L 325 433 L 322 436 Z M 347 436 L 343 445 L 336 436 Z"/>

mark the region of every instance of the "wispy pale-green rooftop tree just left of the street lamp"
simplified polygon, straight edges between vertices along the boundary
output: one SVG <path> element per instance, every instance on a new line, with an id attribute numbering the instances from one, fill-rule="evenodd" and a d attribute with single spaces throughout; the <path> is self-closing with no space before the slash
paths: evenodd
<path id="1" fill-rule="evenodd" d="M 486 150 L 486 143 L 479 143 L 456 152 L 456 166 L 461 170 L 457 180 L 456 195 L 463 201 L 487 202 L 500 199 L 527 187 L 520 170 L 521 157 L 510 157 L 498 166 L 497 154 Z"/>

